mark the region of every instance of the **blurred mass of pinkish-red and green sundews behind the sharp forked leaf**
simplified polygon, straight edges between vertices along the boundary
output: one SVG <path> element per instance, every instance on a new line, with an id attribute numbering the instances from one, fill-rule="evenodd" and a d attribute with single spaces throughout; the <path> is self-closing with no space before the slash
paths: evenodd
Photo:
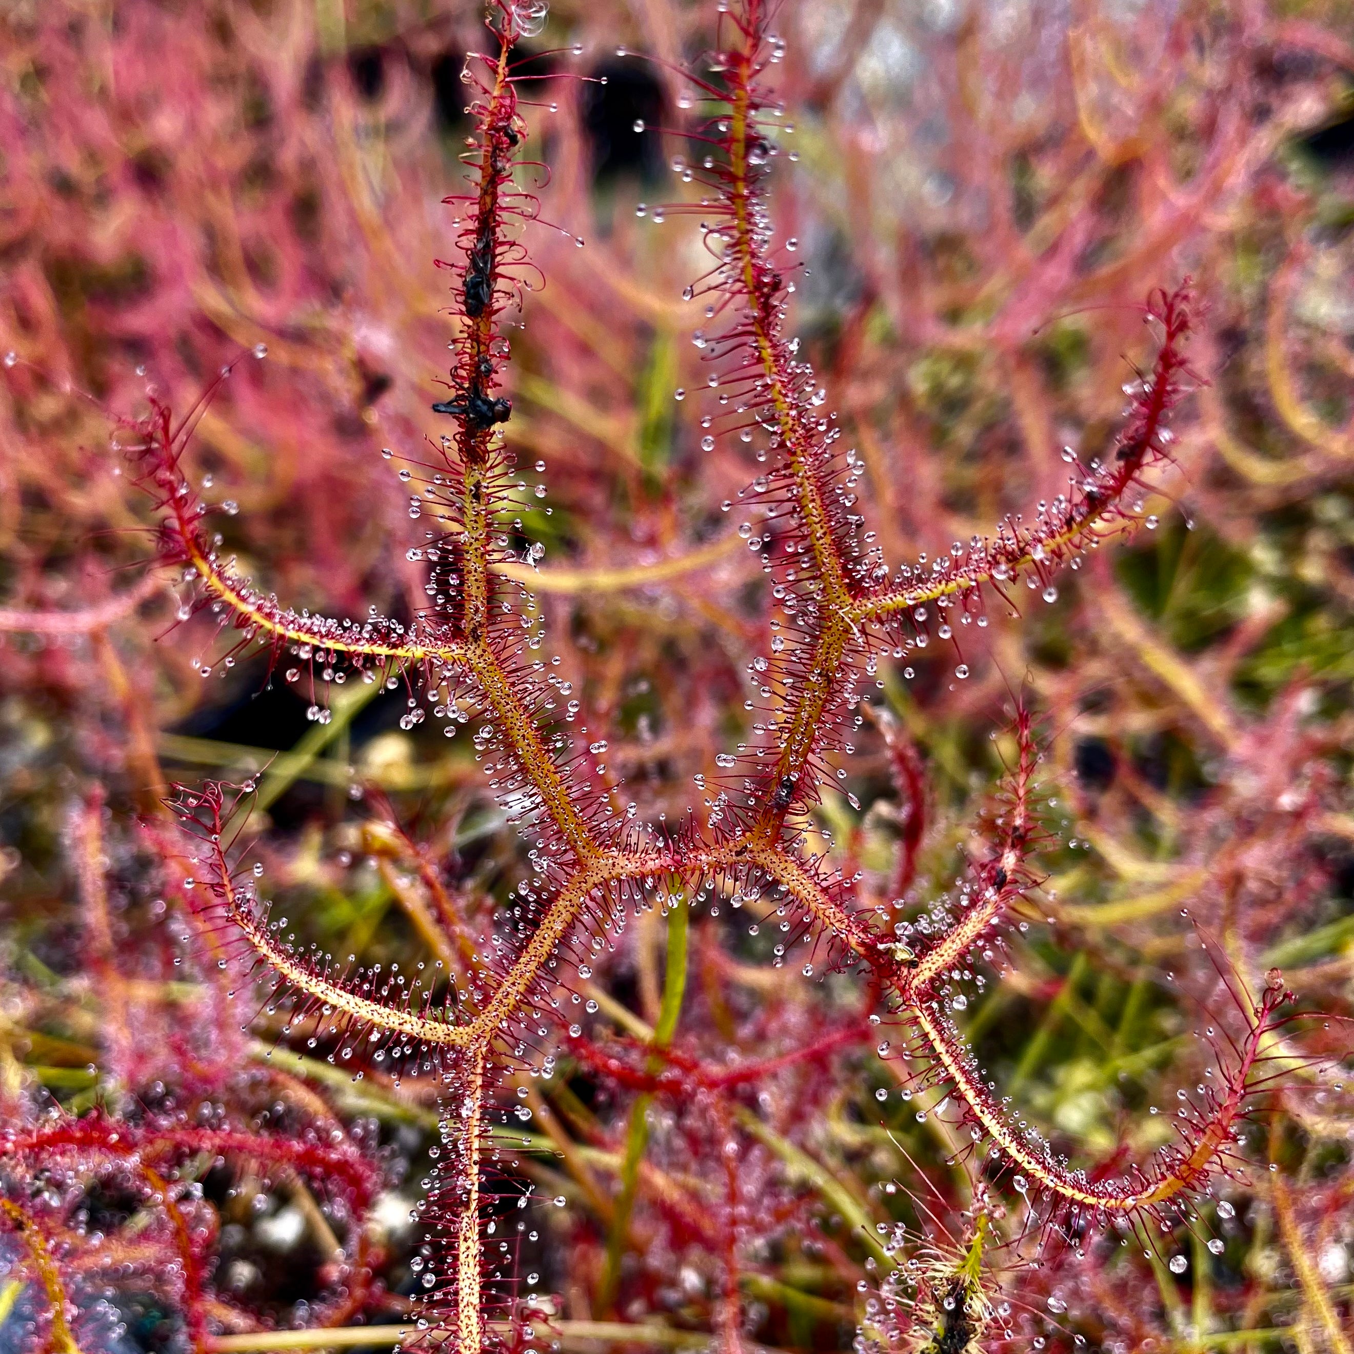
<path id="1" fill-rule="evenodd" d="M 429 1269 L 408 1213 L 425 1189 L 422 1154 L 441 1150 L 435 1083 L 397 1085 L 375 1062 L 351 1082 L 325 1057 L 345 1062 L 352 1041 L 321 1047 L 286 1006 L 260 1011 L 250 1030 L 260 1043 L 237 1039 L 229 987 L 213 976 L 213 956 L 234 956 L 214 946 L 233 933 L 179 929 L 198 915 L 184 904 L 213 879 L 210 854 L 203 869 L 184 860 L 183 842 L 154 826 L 154 806 L 171 776 L 196 783 L 191 766 L 257 777 L 272 826 L 249 861 L 263 864 L 302 948 L 352 953 L 386 974 L 437 959 L 468 972 L 478 936 L 492 925 L 510 934 L 512 909 L 529 915 L 538 902 L 528 896 L 533 838 L 520 842 L 502 821 L 519 804 L 482 789 L 482 768 L 498 761 L 493 743 L 477 765 L 466 735 L 435 742 L 436 716 L 422 700 L 410 707 L 408 689 L 378 696 L 385 682 L 351 677 L 340 686 L 341 668 L 326 682 L 311 653 L 301 662 L 279 654 L 272 691 L 260 695 L 268 663 L 244 653 L 229 662 L 207 620 L 154 643 L 188 597 L 152 590 L 139 574 L 129 592 L 108 573 L 146 552 L 146 538 L 122 528 L 158 519 L 122 487 L 127 463 L 106 451 L 108 416 L 64 385 L 129 412 L 144 408 L 150 379 L 187 409 L 241 347 L 265 344 L 267 362 L 236 367 L 185 452 L 194 485 L 229 496 L 204 528 L 221 532 L 222 559 L 234 555 L 264 601 L 275 590 L 298 609 L 360 623 L 372 603 L 406 620 L 427 607 L 424 562 L 401 556 L 410 525 L 417 547 L 439 508 L 427 487 L 412 505 L 375 450 L 394 448 L 412 479 L 421 474 L 413 462 L 427 459 L 414 450 L 422 432 L 440 431 L 425 410 L 444 367 L 433 344 L 456 330 L 437 314 L 445 279 L 431 260 L 455 256 L 447 209 L 435 203 L 458 191 L 460 171 L 439 135 L 459 149 L 456 138 L 473 134 L 456 77 L 460 53 L 483 43 L 478 16 L 462 18 L 458 31 L 394 8 L 232 7 L 204 27 L 198 15 L 133 5 L 116 24 L 47 8 L 7 20 L 7 306 L 23 357 L 9 370 L 5 410 L 7 501 L 23 506 L 9 527 L 5 613 L 15 634 L 5 822 L 22 850 L 7 880 L 7 1087 L 16 1124 L 53 1097 L 80 1113 L 102 1102 L 179 1173 L 165 1181 L 177 1197 L 157 1204 L 157 1186 L 116 1160 L 108 1139 L 130 1132 L 118 1127 L 88 1129 L 99 1140 L 73 1156 L 43 1143 L 49 1156 L 16 1167 L 20 1210 L 46 1178 L 35 1169 L 61 1182 L 42 1198 L 51 1215 L 39 1209 L 38 1229 L 16 1233 L 28 1251 L 16 1243 L 7 1290 L 15 1330 L 32 1322 L 38 1339 L 111 1339 L 129 1311 L 146 1313 L 145 1330 L 125 1338 L 221 1345 L 217 1331 L 233 1330 L 245 1342 L 234 1347 L 250 1347 L 260 1323 L 345 1322 L 363 1304 L 368 1319 L 403 1320 L 403 1298 Z M 1120 445 L 1118 386 L 1136 379 L 1122 355 L 1148 374 L 1155 359 L 1143 298 L 1190 272 L 1206 301 L 1190 360 L 1213 383 L 1171 444 L 1194 529 L 1167 502 L 1144 501 L 1139 516 L 1158 535 L 1039 577 L 1024 624 L 988 607 L 992 624 L 974 640 L 959 631 L 956 655 L 933 615 L 923 653 L 879 655 L 864 684 L 873 714 L 848 735 L 844 793 L 823 795 L 804 842 L 825 856 L 825 876 L 858 873 L 850 888 L 867 917 L 909 895 L 900 917 L 929 917 L 932 899 L 963 877 L 957 845 L 990 884 L 980 872 L 1002 825 L 994 811 L 982 844 L 968 825 L 980 822 L 999 770 L 984 735 L 1005 727 L 1010 686 L 1024 685 L 1051 712 L 1047 747 L 1062 773 L 1044 791 L 1056 800 L 1041 814 L 1053 837 L 1032 867 L 1048 879 L 1028 895 L 1037 906 L 1010 937 L 1002 980 L 979 974 L 986 980 L 964 988 L 959 1018 L 997 1085 L 1079 1163 L 1113 1151 L 1120 1108 L 1141 1159 L 1164 1117 L 1151 1105 L 1174 1108 L 1173 1093 L 1198 1082 L 1206 1049 L 1189 1032 L 1219 967 L 1258 994 L 1265 969 L 1282 963 L 1305 1006 L 1338 1014 L 1346 999 L 1347 181 L 1338 134 L 1319 130 L 1338 116 L 1339 70 L 1349 69 L 1339 16 L 1198 7 L 1166 20 L 1147 12 L 1132 26 L 1087 12 L 1068 27 L 1005 9 L 909 19 L 806 7 L 776 23 L 785 38 L 776 91 L 796 123 L 781 149 L 799 149 L 796 161 L 779 157 L 773 210 L 777 236 L 798 236 L 792 253 L 808 265 L 791 275 L 795 324 L 830 391 L 810 408 L 838 410 L 842 444 L 857 447 L 861 501 L 873 505 L 861 509 L 861 528 L 879 533 L 860 539 L 861 567 L 876 544 L 896 567 L 919 548 L 991 533 L 1003 512 L 1030 513 L 1040 494 L 1052 502 L 1066 492 L 1068 467 L 1055 455 L 1064 441 L 1086 460 Z M 718 394 L 697 398 L 711 349 L 685 340 L 714 328 L 699 314 L 712 298 L 678 297 L 708 264 L 684 255 L 693 232 L 672 207 L 662 223 L 653 206 L 636 215 L 640 198 L 701 195 L 681 181 L 699 165 L 663 169 L 674 156 L 691 161 L 692 149 L 653 130 L 693 126 L 701 110 L 682 107 L 689 87 L 676 74 L 613 53 L 643 47 L 685 64 L 711 47 L 715 16 L 556 9 L 550 24 L 538 47 L 558 34 L 584 54 L 535 58 L 525 73 L 550 76 L 539 81 L 544 107 L 517 111 L 525 145 L 544 146 L 551 165 L 544 214 L 567 233 L 535 226 L 521 237 L 547 284 L 531 295 L 525 332 L 512 333 L 504 389 L 519 473 L 504 489 L 516 558 L 500 569 L 536 596 L 547 627 L 539 653 L 561 655 L 551 699 L 574 714 L 570 733 L 581 746 L 607 743 L 586 754 L 590 776 L 604 788 L 626 777 L 616 793 L 593 791 L 596 812 L 609 803 L 624 819 L 632 800 L 638 821 L 666 815 L 691 856 L 676 825 L 688 806 L 700 819 L 714 807 L 703 800 L 730 774 L 720 758 L 758 718 L 743 709 L 765 684 L 757 663 L 777 659 L 762 628 L 760 554 L 784 538 L 757 512 L 720 513 L 757 477 L 751 455 L 769 452 L 769 437 L 750 429 L 745 445 L 730 420 L 700 427 L 719 413 Z M 157 60 L 162 51 L 177 60 Z M 923 61 L 933 79 L 915 77 Z M 519 87 L 528 91 L 538 92 Z M 588 238 L 582 250 L 575 234 Z M 1089 303 L 1104 309 L 1072 314 Z M 464 330 L 459 341 L 463 357 Z M 673 401 L 682 385 L 691 395 Z M 464 403 L 464 380 L 448 402 L 456 390 Z M 466 422 L 462 414 L 462 432 Z M 119 440 L 126 448 L 135 435 Z M 546 498 L 535 493 L 546 481 L 525 473 L 538 458 Z M 448 486 L 431 487 L 447 497 Z M 1179 494 L 1182 482 L 1166 487 Z M 839 504 L 853 516 L 854 504 Z M 414 524 L 406 510 L 420 515 Z M 730 529 L 742 516 L 746 538 Z M 751 539 L 757 554 L 745 548 Z M 524 558 L 538 543 L 539 575 Z M 444 607 L 436 578 L 432 604 Z M 447 582 L 441 594 L 455 597 Z M 917 638 L 899 635 L 895 647 Z M 287 693 L 290 666 L 299 700 Z M 445 712 L 454 700 L 437 703 Z M 424 709 L 429 718 L 413 723 Z M 318 718 L 307 722 L 307 711 Z M 260 746 L 298 738 L 295 753 L 264 769 Z M 1021 745 L 1033 756 L 1030 735 Z M 1014 745 L 1006 756 L 1017 765 Z M 165 772 L 162 760 L 180 769 Z M 695 792 L 692 776 L 704 780 Z M 737 788 L 742 769 L 733 776 Z M 779 789 L 779 777 L 766 781 L 772 806 Z M 188 807 L 199 818 L 214 811 L 210 798 Z M 138 812 L 150 827 L 134 826 Z M 1024 892 L 1033 879 L 1020 883 Z M 578 1324 L 588 1320 L 661 1320 L 730 1343 L 833 1345 L 864 1319 L 862 1339 L 925 1343 L 925 1326 L 918 1335 L 913 1322 L 890 1330 L 883 1320 L 883 1300 L 913 1300 L 887 1277 L 895 1258 L 921 1262 L 929 1246 L 940 1275 L 932 1289 L 953 1300 L 945 1275 L 960 1273 L 986 1227 L 1017 1236 L 1024 1212 L 990 1209 L 979 1228 L 972 1163 L 945 1164 L 967 1137 L 955 1136 L 955 1106 L 937 1112 L 940 1093 L 926 1089 L 904 1101 L 900 1049 L 869 1052 L 883 1044 L 869 1025 L 886 1011 L 881 994 L 858 978 L 818 982 L 839 951 L 800 951 L 815 968 L 807 980 L 799 963 L 774 967 L 774 945 L 799 933 L 783 937 L 772 909 L 743 938 L 742 917 L 761 899 L 734 909 L 738 891 L 708 894 L 681 936 L 685 907 L 666 927 L 643 909 L 623 934 L 601 926 L 604 963 L 584 933 L 580 957 L 593 972 L 574 984 L 580 1018 L 551 1016 L 535 1036 L 556 1055 L 554 1075 L 513 1063 L 520 1072 L 493 1097 L 510 1117 L 489 1150 L 516 1164 L 494 1179 L 509 1206 L 500 1221 L 486 1204 L 486 1225 L 493 1215 L 508 1229 L 517 1292 L 561 1294 L 550 1338 L 616 1334 Z M 1216 940 L 1215 957 L 1182 909 Z M 176 974 L 180 957 L 191 983 Z M 906 963 L 896 951 L 892 959 Z M 1011 1021 L 1013 1011 L 1032 1018 Z M 811 1059 L 776 1064 L 806 1047 Z M 282 1062 L 283 1048 L 302 1060 Z M 546 1051 L 531 1060 L 538 1071 Z M 776 1066 L 739 1076 L 768 1052 Z M 1285 1097 L 1269 1137 L 1252 1129 L 1247 1144 L 1281 1167 L 1280 1182 L 1261 1173 L 1252 1186 L 1231 1185 L 1231 1215 L 1205 1212 L 1197 1242 L 1182 1227 L 1139 1258 L 1113 1233 L 1113 1255 L 1104 1243 L 1079 1254 L 1075 1232 L 1057 1244 L 1039 1233 L 1040 1269 L 1020 1269 L 1014 1255 L 1001 1262 L 1005 1296 L 991 1305 L 1013 1304 L 1013 1338 L 1129 1347 L 1286 1328 L 1300 1342 L 1347 1340 L 1343 1106 L 1334 1086 L 1305 1087 Z M 512 1110 L 519 1102 L 529 1120 Z M 256 1139 L 249 1150 L 230 1140 L 217 1178 L 203 1175 L 204 1148 L 184 1136 L 184 1121 L 196 1131 L 204 1116 L 211 1131 Z M 307 1174 L 282 1159 L 269 1145 L 276 1124 L 317 1147 L 337 1133 L 332 1147 L 370 1158 L 364 1179 L 386 1173 L 371 1225 L 349 1227 L 371 1196 L 357 1173 L 345 1181 L 334 1163 Z M 11 1159 L 19 1155 L 15 1147 Z M 108 1181 L 123 1192 L 118 1208 L 111 1221 L 89 1221 Z M 516 1213 L 528 1182 L 566 1205 Z M 1020 1202 L 1007 1186 L 1002 1206 Z M 200 1219 L 177 1228 L 173 1212 L 185 1208 Z M 145 1250 L 92 1262 L 88 1233 L 130 1244 L 123 1223 Z M 898 1238 L 895 1224 L 906 1227 Z M 43 1228 L 70 1289 L 65 1327 L 42 1316 L 39 1280 L 51 1271 L 31 1239 Z M 872 1228 L 883 1240 L 869 1240 Z M 272 1290 L 282 1266 L 267 1258 L 269 1236 L 317 1248 L 301 1290 Z M 485 1240 L 498 1246 L 498 1236 Z M 1224 1243 L 1219 1255 L 1208 1239 Z M 363 1254 L 375 1240 L 380 1254 Z M 177 1270 L 148 1278 L 175 1244 Z M 334 1251 L 343 1259 L 326 1269 Z M 210 1311 L 207 1294 L 192 1293 L 198 1255 L 218 1303 Z M 1186 1257 L 1178 1275 L 1166 1265 Z M 431 1267 L 447 1277 L 441 1251 Z M 87 1273 L 88 1297 L 76 1281 Z M 998 1282 L 986 1273 L 984 1284 Z M 976 1326 L 978 1297 L 960 1296 Z M 915 1300 L 925 1311 L 925 1294 Z M 116 1309 L 107 1326 L 100 1303 Z M 961 1334 L 956 1326 L 949 1339 Z M 519 1322 L 509 1338 L 524 1336 Z M 268 1339 L 274 1347 L 279 1336 Z"/>

